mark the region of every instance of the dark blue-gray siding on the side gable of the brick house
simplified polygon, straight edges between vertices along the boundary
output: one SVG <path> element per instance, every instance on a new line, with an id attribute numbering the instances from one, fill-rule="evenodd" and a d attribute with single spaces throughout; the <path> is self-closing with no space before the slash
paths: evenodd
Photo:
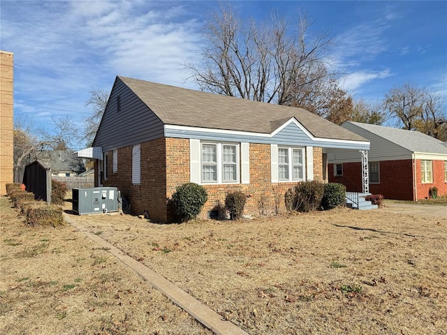
<path id="1" fill-rule="evenodd" d="M 117 110 L 119 96 L 120 110 Z M 160 119 L 119 78 L 115 80 L 94 147 L 103 152 L 163 137 Z"/>

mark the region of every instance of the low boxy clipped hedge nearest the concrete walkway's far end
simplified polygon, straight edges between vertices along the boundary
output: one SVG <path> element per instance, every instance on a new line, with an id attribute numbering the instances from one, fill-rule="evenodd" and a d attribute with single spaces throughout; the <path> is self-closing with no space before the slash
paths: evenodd
<path id="1" fill-rule="evenodd" d="M 54 204 L 45 202 L 36 202 L 29 205 L 26 209 L 26 223 L 29 225 L 57 225 L 64 224 L 64 215 L 62 208 Z"/>

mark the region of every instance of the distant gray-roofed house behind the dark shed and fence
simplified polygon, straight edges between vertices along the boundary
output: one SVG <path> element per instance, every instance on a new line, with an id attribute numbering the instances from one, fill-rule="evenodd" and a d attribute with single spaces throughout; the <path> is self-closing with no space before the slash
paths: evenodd
<path id="1" fill-rule="evenodd" d="M 82 159 L 68 151 L 43 151 L 39 159 L 50 166 L 52 177 L 75 177 L 85 171 Z"/>

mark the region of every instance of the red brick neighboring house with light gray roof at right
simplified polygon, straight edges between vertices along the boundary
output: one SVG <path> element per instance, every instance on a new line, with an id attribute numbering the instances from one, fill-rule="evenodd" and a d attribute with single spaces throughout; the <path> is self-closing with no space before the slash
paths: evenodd
<path id="1" fill-rule="evenodd" d="M 368 152 L 369 192 L 387 199 L 420 200 L 437 187 L 447 194 L 447 145 L 418 131 L 346 121 L 343 128 L 371 142 Z M 328 154 L 330 181 L 359 184 L 360 160 L 352 151 Z M 348 183 L 349 184 L 349 183 Z M 346 186 L 348 185 L 346 184 Z"/>

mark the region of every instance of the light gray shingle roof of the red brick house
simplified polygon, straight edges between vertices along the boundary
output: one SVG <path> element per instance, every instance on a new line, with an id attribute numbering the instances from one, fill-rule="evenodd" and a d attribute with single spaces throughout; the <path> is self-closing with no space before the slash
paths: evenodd
<path id="1" fill-rule="evenodd" d="M 412 152 L 447 154 L 445 142 L 418 131 L 406 131 L 404 129 L 377 126 L 375 124 L 361 124 L 360 122 L 352 121 L 349 121 L 349 123 L 383 137 Z"/>

